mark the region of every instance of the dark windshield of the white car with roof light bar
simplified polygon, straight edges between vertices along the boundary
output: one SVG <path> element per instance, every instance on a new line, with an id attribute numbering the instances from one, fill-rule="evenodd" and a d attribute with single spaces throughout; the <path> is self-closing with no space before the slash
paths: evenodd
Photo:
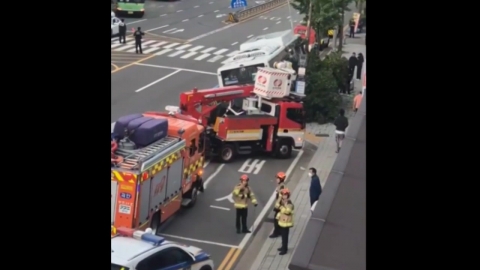
<path id="1" fill-rule="evenodd" d="M 172 267 L 183 263 L 192 263 L 193 259 L 179 248 L 167 248 L 138 263 L 137 270 L 152 270 Z"/>

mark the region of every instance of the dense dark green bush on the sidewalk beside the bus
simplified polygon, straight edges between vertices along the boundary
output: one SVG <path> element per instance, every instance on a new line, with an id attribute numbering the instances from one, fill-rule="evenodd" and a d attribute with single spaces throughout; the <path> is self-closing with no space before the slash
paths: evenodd
<path id="1" fill-rule="evenodd" d="M 340 57 L 333 55 L 320 61 L 311 53 L 307 63 L 307 86 L 305 94 L 306 118 L 308 122 L 325 123 L 338 114 L 342 98 L 339 94 L 341 76 L 348 67 Z"/>

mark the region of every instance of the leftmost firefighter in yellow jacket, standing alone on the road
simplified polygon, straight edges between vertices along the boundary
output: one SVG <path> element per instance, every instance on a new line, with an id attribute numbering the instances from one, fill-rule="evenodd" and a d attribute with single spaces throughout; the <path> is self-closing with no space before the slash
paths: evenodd
<path id="1" fill-rule="evenodd" d="M 248 200 L 257 207 L 257 199 L 255 198 L 252 188 L 248 185 L 248 180 L 248 175 L 244 174 L 240 176 L 240 183 L 235 186 L 232 192 L 234 207 L 237 212 L 235 220 L 237 233 L 251 233 L 247 227 Z"/>

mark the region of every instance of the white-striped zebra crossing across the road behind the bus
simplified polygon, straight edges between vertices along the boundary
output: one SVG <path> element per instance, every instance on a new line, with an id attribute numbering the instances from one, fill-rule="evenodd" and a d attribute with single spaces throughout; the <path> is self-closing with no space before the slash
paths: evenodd
<path id="1" fill-rule="evenodd" d="M 159 40 L 146 40 L 142 42 L 144 54 L 164 55 L 166 57 L 176 57 L 180 59 L 189 59 L 195 61 L 206 61 L 209 63 L 227 62 L 227 59 L 236 55 L 238 50 L 225 48 L 208 47 L 202 45 L 182 44 L 177 42 L 167 42 Z M 133 38 L 127 38 L 125 44 L 118 43 L 117 39 L 112 39 L 112 52 L 135 52 L 135 43 Z"/>

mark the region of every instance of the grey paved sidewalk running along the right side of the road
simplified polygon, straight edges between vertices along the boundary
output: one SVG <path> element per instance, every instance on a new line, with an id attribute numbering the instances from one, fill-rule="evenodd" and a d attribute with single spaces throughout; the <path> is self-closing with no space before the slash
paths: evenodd
<path id="1" fill-rule="evenodd" d="M 365 53 L 365 45 L 360 44 L 347 44 L 344 47 L 345 56 L 349 57 L 352 52 L 355 53 Z M 358 92 L 362 88 L 361 81 L 355 81 L 354 91 Z M 351 112 L 351 100 L 354 95 L 345 96 L 345 101 L 347 102 L 347 117 L 352 119 L 353 113 Z M 350 103 L 348 103 L 350 101 Z M 322 187 L 325 186 L 325 181 L 330 174 L 333 163 L 337 157 L 335 153 L 336 143 L 335 143 L 335 126 L 332 124 L 318 125 L 318 124 L 309 124 L 307 130 L 313 134 L 328 134 L 327 138 L 319 140 L 314 144 L 318 146 L 317 152 L 313 156 L 312 160 L 309 163 L 309 167 L 314 167 L 317 169 L 318 176 L 320 177 L 320 182 Z M 300 241 L 300 238 L 305 230 L 305 227 L 308 222 L 308 217 L 310 216 L 310 198 L 309 198 L 309 187 L 310 179 L 307 175 L 308 168 L 305 168 L 305 173 L 303 174 L 300 182 L 292 192 L 292 201 L 295 205 L 295 214 L 294 214 L 294 227 L 290 229 L 290 239 L 287 254 L 280 256 L 278 255 L 277 249 L 281 246 L 281 239 L 265 239 L 265 242 L 258 253 L 258 256 L 254 260 L 250 270 L 286 270 L 288 269 L 288 264 L 293 256 L 297 243 Z M 273 227 L 272 227 L 273 231 Z M 235 270 L 249 270 L 242 267 L 242 263 L 237 265 Z"/>

